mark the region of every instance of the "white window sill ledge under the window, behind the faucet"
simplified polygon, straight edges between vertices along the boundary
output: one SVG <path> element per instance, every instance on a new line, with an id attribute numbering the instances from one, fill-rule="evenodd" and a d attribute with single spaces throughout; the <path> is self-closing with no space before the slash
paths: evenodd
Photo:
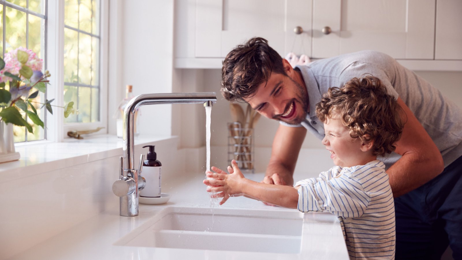
<path id="1" fill-rule="evenodd" d="M 136 136 L 135 146 L 152 144 L 176 136 Z M 0 164 L 0 173 L 14 173 L 15 177 L 49 172 L 65 167 L 122 156 L 123 141 L 115 135 L 85 136 L 84 139 L 68 138 L 64 142 L 43 142 L 16 147 L 21 158 Z M 11 175 L 10 175 L 11 176 Z"/>

